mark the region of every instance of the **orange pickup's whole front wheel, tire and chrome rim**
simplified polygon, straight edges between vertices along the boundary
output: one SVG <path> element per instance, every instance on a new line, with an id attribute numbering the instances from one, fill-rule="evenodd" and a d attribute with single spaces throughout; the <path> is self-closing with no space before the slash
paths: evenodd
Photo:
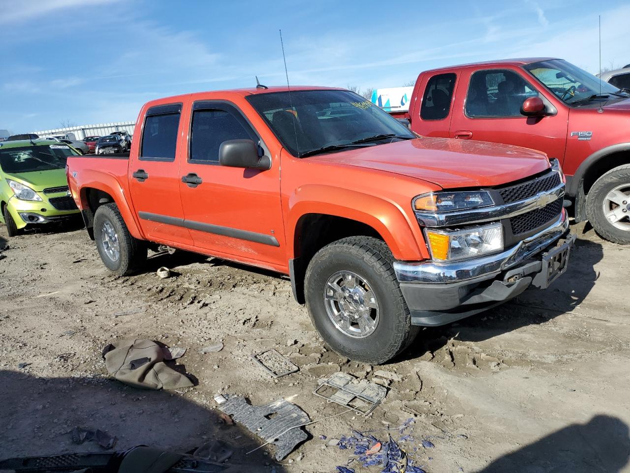
<path id="1" fill-rule="evenodd" d="M 348 237 L 330 243 L 306 271 L 306 305 L 324 342 L 356 361 L 379 365 L 418 333 L 381 240 Z"/>

